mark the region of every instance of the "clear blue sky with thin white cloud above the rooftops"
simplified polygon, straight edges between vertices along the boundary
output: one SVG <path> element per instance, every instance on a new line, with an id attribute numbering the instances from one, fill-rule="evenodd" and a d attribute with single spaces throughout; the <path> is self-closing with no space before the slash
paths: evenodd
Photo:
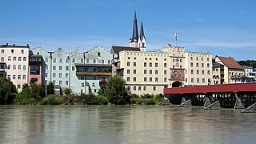
<path id="1" fill-rule="evenodd" d="M 254 0 L 1 0 L 0 44 L 65 51 L 129 46 L 134 6 L 147 50 L 167 43 L 189 52 L 256 59 Z"/>

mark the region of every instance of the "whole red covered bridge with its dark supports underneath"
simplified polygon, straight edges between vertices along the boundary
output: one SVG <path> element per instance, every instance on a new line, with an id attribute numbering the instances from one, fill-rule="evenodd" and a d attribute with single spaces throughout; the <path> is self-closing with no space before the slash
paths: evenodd
<path id="1" fill-rule="evenodd" d="M 237 98 L 240 98 L 243 106 L 248 107 L 256 102 L 256 83 L 166 88 L 164 95 L 177 105 L 185 98 L 190 99 L 194 106 L 203 106 L 207 97 L 210 102 L 218 100 L 225 108 L 233 108 Z"/>

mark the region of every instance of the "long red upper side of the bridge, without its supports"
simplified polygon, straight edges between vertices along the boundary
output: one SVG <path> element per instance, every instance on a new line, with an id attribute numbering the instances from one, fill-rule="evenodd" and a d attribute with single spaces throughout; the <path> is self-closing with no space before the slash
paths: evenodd
<path id="1" fill-rule="evenodd" d="M 256 83 L 235 83 L 223 85 L 207 86 L 188 86 L 166 88 L 163 93 L 166 94 L 207 94 L 207 93 L 240 93 L 256 92 Z"/>

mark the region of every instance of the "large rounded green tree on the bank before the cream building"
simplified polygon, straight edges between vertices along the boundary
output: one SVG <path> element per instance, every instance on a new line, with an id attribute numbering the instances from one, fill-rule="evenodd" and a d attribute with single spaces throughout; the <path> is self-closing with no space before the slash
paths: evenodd
<path id="1" fill-rule="evenodd" d="M 110 78 L 110 82 L 106 84 L 106 95 L 110 103 L 116 105 L 130 103 L 130 97 L 125 85 L 126 82 L 117 75 Z"/>

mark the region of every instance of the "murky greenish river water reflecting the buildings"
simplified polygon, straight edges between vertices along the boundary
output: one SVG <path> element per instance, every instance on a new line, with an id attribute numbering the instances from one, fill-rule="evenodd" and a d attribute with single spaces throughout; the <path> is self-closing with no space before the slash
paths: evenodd
<path id="1" fill-rule="evenodd" d="M 256 114 L 173 106 L 0 106 L 0 143 L 254 143 Z"/>

